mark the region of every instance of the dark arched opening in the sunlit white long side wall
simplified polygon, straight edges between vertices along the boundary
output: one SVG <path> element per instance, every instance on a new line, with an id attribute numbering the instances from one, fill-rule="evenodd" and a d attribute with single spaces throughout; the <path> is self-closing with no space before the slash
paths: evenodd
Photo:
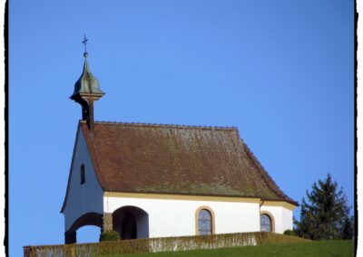
<path id="1" fill-rule="evenodd" d="M 113 212 L 113 229 L 121 239 L 149 237 L 149 214 L 136 206 L 123 206 Z"/>

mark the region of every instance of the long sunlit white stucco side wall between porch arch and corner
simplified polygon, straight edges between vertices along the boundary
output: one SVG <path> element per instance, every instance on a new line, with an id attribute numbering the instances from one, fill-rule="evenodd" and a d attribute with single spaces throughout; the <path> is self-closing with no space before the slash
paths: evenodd
<path id="1" fill-rule="evenodd" d="M 176 196 L 176 198 L 178 197 Z M 246 200 L 246 202 L 242 202 L 242 200 L 240 202 L 223 201 L 208 200 L 208 197 L 185 200 L 104 196 L 103 209 L 106 213 L 113 213 L 118 208 L 127 205 L 141 208 L 149 214 L 150 237 L 195 235 L 195 213 L 201 206 L 208 206 L 215 214 L 215 233 L 260 231 L 258 199 L 254 203 L 250 200 Z"/>

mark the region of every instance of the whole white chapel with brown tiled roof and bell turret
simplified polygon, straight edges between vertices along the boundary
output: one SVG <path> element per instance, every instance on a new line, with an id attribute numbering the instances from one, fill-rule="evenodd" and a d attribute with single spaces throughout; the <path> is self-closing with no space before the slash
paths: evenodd
<path id="1" fill-rule="evenodd" d="M 236 128 L 97 122 L 103 96 L 84 53 L 71 99 L 82 106 L 64 204 L 65 243 L 96 225 L 121 239 L 292 229 L 298 203 Z"/>

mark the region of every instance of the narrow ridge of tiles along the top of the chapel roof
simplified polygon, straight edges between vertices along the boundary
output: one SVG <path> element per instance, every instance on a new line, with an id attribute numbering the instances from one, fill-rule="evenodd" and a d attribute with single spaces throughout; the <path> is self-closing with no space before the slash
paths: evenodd
<path id="1" fill-rule="evenodd" d="M 81 120 L 81 122 L 85 122 Z M 120 122 L 120 121 L 94 121 L 94 124 L 103 125 L 125 125 L 125 126 L 147 126 L 147 127 L 166 127 L 176 129 L 227 129 L 227 130 L 238 130 L 237 127 L 224 127 L 224 126 L 201 126 L 201 125 L 180 125 L 180 124 L 165 124 L 165 123 L 146 123 L 146 122 Z"/>

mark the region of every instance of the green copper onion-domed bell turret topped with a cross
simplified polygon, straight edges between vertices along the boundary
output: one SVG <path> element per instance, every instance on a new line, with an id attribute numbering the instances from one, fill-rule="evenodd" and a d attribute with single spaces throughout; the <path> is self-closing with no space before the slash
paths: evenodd
<path id="1" fill-rule="evenodd" d="M 82 119 L 86 120 L 88 129 L 93 133 L 93 103 L 102 98 L 104 92 L 100 89 L 100 83 L 91 73 L 87 62 L 87 41 L 88 39 L 84 35 L 83 73 L 78 81 L 75 82 L 74 93 L 70 99 L 82 106 Z"/>

